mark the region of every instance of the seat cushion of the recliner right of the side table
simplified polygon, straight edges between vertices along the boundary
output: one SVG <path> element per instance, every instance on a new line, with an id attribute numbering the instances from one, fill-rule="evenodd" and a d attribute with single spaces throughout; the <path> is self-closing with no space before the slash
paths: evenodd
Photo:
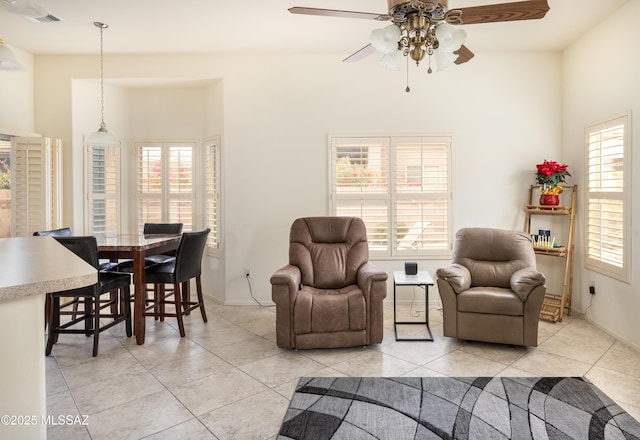
<path id="1" fill-rule="evenodd" d="M 524 315 L 520 297 L 500 287 L 472 287 L 458 294 L 458 311 L 492 315 Z"/>

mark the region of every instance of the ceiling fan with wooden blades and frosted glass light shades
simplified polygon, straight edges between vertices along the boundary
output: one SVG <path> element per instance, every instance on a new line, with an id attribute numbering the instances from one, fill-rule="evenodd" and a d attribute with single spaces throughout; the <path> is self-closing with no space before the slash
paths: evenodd
<path id="1" fill-rule="evenodd" d="M 371 33 L 371 43 L 343 61 L 359 61 L 377 51 L 384 54 L 378 64 L 391 70 L 399 70 L 399 62 L 404 57 L 419 65 L 425 56 L 429 56 L 431 64 L 433 55 L 437 69 L 442 70 L 454 63 L 465 63 L 474 56 L 464 45 L 466 32 L 457 28 L 457 25 L 535 20 L 543 18 L 549 10 L 547 0 L 455 9 L 449 9 L 448 0 L 387 0 L 387 4 L 386 14 L 299 6 L 290 8 L 289 12 L 390 21 L 392 24 Z M 428 72 L 431 73 L 431 66 Z"/>

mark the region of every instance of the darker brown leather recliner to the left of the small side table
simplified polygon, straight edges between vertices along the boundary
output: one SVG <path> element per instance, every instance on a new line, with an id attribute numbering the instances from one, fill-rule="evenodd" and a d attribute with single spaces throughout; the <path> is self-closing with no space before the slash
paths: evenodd
<path id="1" fill-rule="evenodd" d="M 291 225 L 289 264 L 271 277 L 280 348 L 378 344 L 387 274 L 368 263 L 357 217 L 299 218 Z"/>

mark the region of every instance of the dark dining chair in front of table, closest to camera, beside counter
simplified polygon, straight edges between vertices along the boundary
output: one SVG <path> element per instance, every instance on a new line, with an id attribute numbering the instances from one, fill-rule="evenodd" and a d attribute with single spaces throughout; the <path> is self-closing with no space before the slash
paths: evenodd
<path id="1" fill-rule="evenodd" d="M 60 244 L 82 258 L 88 264 L 96 268 L 98 283 L 79 289 L 65 290 L 48 294 L 51 297 L 49 312 L 49 330 L 45 355 L 49 356 L 53 344 L 58 341 L 58 335 L 64 333 L 93 335 L 93 356 L 98 355 L 98 342 L 100 333 L 121 322 L 125 323 L 125 331 L 128 337 L 132 335 L 131 328 L 131 275 L 119 272 L 98 271 L 98 243 L 92 236 L 65 236 L 54 237 Z M 114 295 L 118 292 L 119 295 Z M 103 294 L 110 294 L 109 300 L 102 300 Z M 84 310 L 76 311 L 80 316 L 73 316 L 68 322 L 62 323 L 60 316 L 69 314 L 61 310 L 60 298 L 73 297 L 82 299 Z M 115 307 L 114 307 L 115 306 Z M 104 313 L 105 308 L 109 313 Z M 115 310 L 115 312 L 114 312 Z M 100 320 L 109 321 L 100 325 Z M 71 328 L 76 324 L 84 323 L 84 328 Z"/>

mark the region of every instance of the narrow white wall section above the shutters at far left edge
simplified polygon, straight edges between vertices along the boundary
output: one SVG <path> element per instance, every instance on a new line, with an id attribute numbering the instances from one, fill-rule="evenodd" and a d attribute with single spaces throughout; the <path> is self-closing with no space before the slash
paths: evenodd
<path id="1" fill-rule="evenodd" d="M 0 70 L 0 133 L 27 136 L 34 131 L 33 56 L 7 47 L 25 69 Z"/>

